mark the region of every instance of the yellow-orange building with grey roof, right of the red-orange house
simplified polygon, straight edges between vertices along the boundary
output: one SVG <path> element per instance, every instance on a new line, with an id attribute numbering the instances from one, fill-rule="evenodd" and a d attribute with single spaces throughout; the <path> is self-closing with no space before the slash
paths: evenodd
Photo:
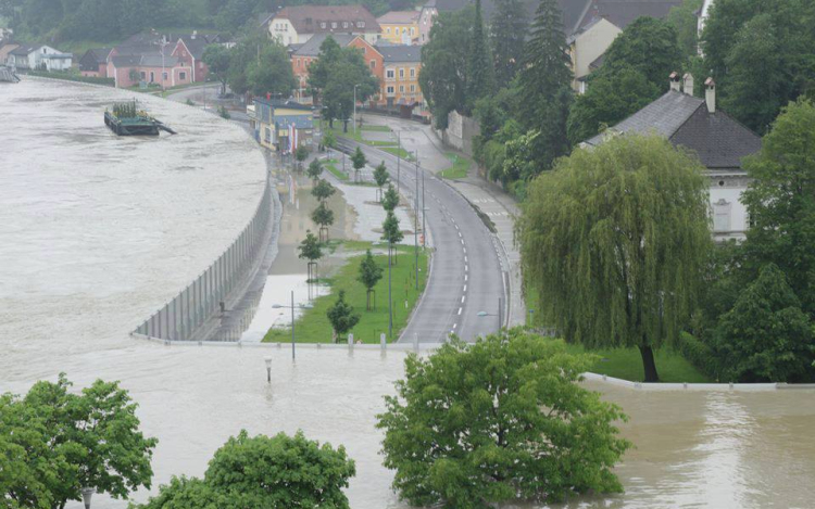
<path id="1" fill-rule="evenodd" d="M 424 103 L 418 75 L 422 72 L 421 46 L 377 46 L 385 61 L 381 98 L 389 107 Z"/>

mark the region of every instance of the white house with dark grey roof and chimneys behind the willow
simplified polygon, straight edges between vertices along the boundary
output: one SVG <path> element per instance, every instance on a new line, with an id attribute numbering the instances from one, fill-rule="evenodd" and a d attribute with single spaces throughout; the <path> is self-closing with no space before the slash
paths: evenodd
<path id="1" fill-rule="evenodd" d="M 693 77 L 686 75 L 681 84 L 674 73 L 667 93 L 584 145 L 595 147 L 611 136 L 635 132 L 659 135 L 688 149 L 699 157 L 711 179 L 714 238 L 743 239 L 748 215 L 740 199 L 749 179 L 742 163 L 761 150 L 761 138 L 717 107 L 713 79 L 705 82 L 704 99 L 692 92 Z"/>

